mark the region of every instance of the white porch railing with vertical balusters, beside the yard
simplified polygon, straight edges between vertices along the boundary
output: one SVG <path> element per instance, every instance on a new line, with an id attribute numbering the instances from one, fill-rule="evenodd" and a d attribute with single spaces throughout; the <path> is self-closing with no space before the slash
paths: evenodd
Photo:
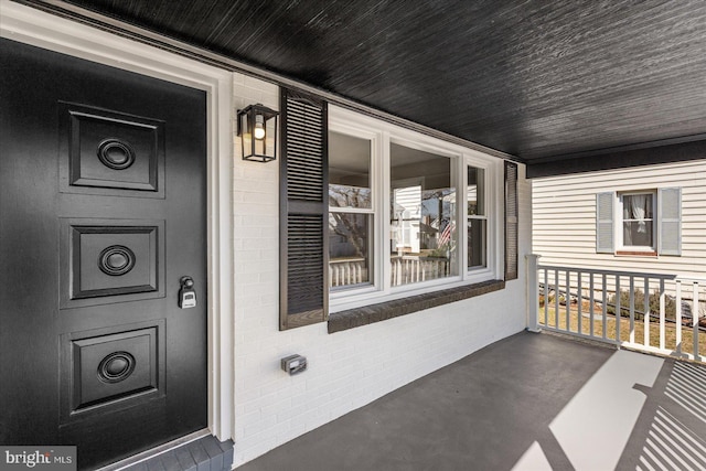
<path id="1" fill-rule="evenodd" d="M 539 265 L 527 256 L 527 329 L 706 363 L 706 280 Z"/>

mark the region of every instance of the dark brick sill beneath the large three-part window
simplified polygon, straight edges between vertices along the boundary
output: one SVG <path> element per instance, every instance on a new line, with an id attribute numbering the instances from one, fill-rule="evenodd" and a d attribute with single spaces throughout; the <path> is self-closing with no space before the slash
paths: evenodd
<path id="1" fill-rule="evenodd" d="M 504 288 L 505 281 L 490 280 L 334 312 L 329 315 L 329 333 L 341 332 L 372 324 L 373 322 L 410 314 L 425 309 L 499 291 Z"/>

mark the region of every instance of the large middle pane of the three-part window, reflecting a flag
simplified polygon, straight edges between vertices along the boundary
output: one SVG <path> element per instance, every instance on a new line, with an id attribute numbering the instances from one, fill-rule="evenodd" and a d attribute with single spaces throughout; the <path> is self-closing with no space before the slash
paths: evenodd
<path id="1" fill-rule="evenodd" d="M 393 286 L 458 274 L 449 158 L 392 144 L 391 220 Z"/>

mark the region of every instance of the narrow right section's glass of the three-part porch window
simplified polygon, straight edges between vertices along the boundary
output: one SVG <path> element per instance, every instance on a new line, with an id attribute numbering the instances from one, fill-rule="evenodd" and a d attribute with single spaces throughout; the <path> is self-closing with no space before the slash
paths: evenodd
<path id="1" fill-rule="evenodd" d="M 468 168 L 467 186 L 468 268 L 485 267 L 488 221 L 485 210 L 485 170 Z"/>

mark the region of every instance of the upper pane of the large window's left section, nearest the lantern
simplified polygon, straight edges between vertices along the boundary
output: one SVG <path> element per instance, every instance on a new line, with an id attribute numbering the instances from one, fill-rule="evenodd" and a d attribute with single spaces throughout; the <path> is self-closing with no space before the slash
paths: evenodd
<path id="1" fill-rule="evenodd" d="M 329 132 L 329 206 L 371 208 L 371 141 Z"/>

